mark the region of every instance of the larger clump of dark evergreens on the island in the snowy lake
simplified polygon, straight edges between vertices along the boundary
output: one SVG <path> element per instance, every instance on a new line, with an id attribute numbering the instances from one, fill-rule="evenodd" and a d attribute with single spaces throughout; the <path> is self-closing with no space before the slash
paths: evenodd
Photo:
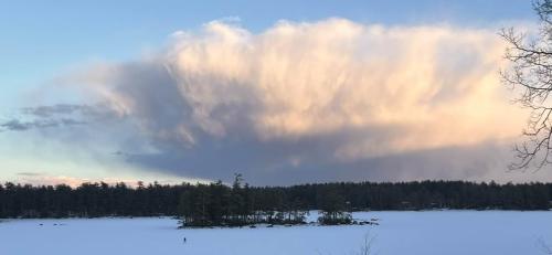
<path id="1" fill-rule="evenodd" d="M 242 226 L 247 224 L 305 223 L 307 203 L 290 199 L 282 190 L 263 190 L 243 184 L 236 174 L 232 187 L 221 181 L 198 184 L 180 198 L 183 226 Z"/>

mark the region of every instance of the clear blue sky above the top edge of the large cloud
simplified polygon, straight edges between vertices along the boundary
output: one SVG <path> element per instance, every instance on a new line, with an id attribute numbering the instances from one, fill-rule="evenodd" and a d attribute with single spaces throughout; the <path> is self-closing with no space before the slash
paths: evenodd
<path id="1" fill-rule="evenodd" d="M 135 59 L 190 30 L 227 17 L 261 31 L 276 21 L 340 17 L 362 23 L 447 22 L 481 26 L 534 19 L 524 0 L 479 1 L 0 1 L 0 84 L 13 92 L 36 86 L 96 60 Z"/>

